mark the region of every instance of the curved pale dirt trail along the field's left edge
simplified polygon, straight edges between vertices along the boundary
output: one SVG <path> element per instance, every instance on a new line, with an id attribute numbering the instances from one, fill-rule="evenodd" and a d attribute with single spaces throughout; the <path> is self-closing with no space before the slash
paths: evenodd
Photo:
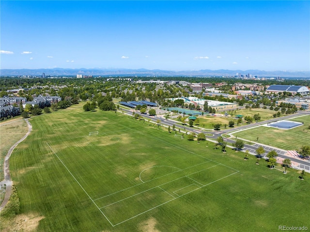
<path id="1" fill-rule="evenodd" d="M 10 197 L 11 197 L 11 193 L 12 193 L 12 185 L 13 185 L 13 182 L 11 180 L 11 176 L 10 176 L 10 170 L 9 170 L 9 159 L 10 159 L 10 156 L 13 152 L 13 150 L 16 148 L 16 146 L 22 142 L 24 139 L 27 138 L 27 136 L 30 134 L 31 130 L 32 130 L 32 126 L 31 124 L 29 123 L 28 119 L 25 119 L 26 123 L 28 124 L 28 132 L 26 133 L 26 135 L 19 139 L 11 148 L 10 150 L 8 151 L 8 154 L 5 156 L 4 158 L 4 164 L 3 164 L 3 170 L 4 170 L 4 180 L 1 181 L 1 185 L 5 184 L 6 185 L 6 188 L 5 188 L 5 195 L 4 195 L 4 199 L 1 203 L 1 206 L 0 206 L 0 211 L 6 206 L 6 204 L 8 203 Z"/>

